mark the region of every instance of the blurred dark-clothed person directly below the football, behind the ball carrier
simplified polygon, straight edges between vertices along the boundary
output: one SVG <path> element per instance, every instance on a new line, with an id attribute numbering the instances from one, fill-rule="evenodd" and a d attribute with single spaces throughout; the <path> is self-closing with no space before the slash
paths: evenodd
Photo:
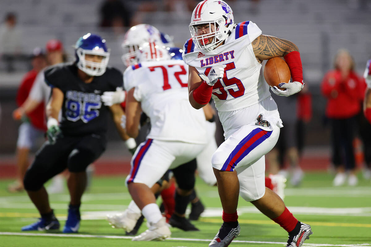
<path id="1" fill-rule="evenodd" d="M 299 186 L 303 178 L 303 171 L 299 166 L 299 152 L 296 137 L 296 123 L 298 121 L 297 108 L 298 97 L 282 97 L 272 94 L 280 111 L 280 118 L 283 127 L 280 129 L 280 135 L 276 146 L 267 153 L 269 161 L 269 173 L 281 174 L 284 177 L 289 176 L 285 170 L 285 161 L 290 165 L 290 182 L 293 186 Z"/>

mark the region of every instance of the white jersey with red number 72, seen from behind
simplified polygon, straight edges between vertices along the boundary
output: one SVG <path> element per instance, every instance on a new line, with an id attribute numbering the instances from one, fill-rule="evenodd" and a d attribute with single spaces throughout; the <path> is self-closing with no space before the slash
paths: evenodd
<path id="1" fill-rule="evenodd" d="M 124 88 L 134 90 L 142 110 L 151 119 L 147 138 L 205 144 L 202 109 L 188 100 L 188 66 L 182 60 L 145 61 L 124 72 Z"/>

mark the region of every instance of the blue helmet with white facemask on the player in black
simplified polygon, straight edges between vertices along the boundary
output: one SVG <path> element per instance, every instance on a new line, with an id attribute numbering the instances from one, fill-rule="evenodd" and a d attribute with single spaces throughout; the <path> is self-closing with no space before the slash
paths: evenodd
<path id="1" fill-rule="evenodd" d="M 85 55 L 102 56 L 100 63 L 86 60 Z M 87 33 L 76 42 L 75 46 L 76 65 L 89 76 L 101 76 L 107 68 L 109 50 L 106 47 L 106 40 L 96 34 Z"/>

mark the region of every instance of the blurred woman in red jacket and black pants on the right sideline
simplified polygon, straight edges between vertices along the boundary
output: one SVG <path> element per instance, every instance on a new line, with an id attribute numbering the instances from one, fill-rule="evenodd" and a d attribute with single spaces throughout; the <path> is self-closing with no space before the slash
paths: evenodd
<path id="1" fill-rule="evenodd" d="M 334 186 L 345 183 L 345 171 L 349 171 L 348 184 L 355 186 L 355 158 L 353 139 L 355 116 L 361 110 L 359 86 L 361 81 L 354 71 L 354 61 L 349 51 L 340 49 L 335 56 L 335 69 L 328 71 L 321 85 L 322 94 L 327 98 L 326 116 L 331 123 L 332 163 L 337 174 Z M 342 151 L 344 150 L 344 162 Z M 345 167 L 343 164 L 345 163 Z"/>

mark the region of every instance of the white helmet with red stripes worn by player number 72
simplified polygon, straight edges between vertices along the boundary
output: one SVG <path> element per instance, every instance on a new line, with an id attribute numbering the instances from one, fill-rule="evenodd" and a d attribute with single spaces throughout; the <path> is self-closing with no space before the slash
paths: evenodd
<path id="1" fill-rule="evenodd" d="M 139 46 L 136 53 L 138 62 L 170 60 L 169 51 L 161 41 L 147 42 Z"/>

